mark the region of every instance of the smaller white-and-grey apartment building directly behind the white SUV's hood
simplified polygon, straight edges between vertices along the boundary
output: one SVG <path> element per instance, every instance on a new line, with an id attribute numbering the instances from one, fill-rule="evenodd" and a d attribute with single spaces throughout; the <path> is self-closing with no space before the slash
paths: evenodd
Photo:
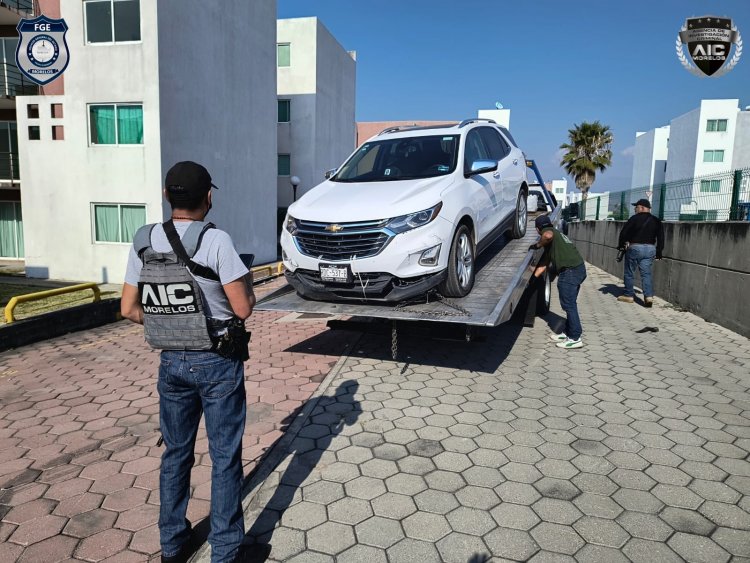
<path id="1" fill-rule="evenodd" d="M 337 168 L 355 145 L 356 54 L 318 18 L 277 22 L 278 207 L 299 198 Z"/>

